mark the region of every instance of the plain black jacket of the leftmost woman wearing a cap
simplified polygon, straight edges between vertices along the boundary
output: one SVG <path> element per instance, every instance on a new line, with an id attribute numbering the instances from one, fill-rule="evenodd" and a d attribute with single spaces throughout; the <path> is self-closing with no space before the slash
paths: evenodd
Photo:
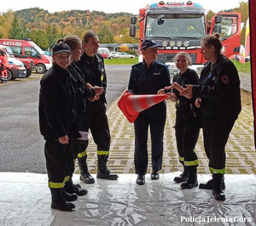
<path id="1" fill-rule="evenodd" d="M 45 139 L 61 138 L 69 133 L 69 126 L 76 120 L 71 76 L 54 63 L 41 79 L 40 85 L 40 132 Z"/>

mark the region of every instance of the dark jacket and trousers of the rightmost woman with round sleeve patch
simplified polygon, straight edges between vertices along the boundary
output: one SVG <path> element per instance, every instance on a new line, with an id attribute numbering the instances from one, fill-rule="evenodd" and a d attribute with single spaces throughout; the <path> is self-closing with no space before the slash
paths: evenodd
<path id="1" fill-rule="evenodd" d="M 225 172 L 225 145 L 241 111 L 240 80 L 236 66 L 224 56 L 207 62 L 193 94 L 201 98 L 204 146 L 212 174 Z"/>

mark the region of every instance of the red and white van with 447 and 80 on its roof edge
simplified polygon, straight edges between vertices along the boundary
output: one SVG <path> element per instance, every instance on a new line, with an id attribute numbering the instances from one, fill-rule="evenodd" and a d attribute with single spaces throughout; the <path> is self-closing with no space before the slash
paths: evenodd
<path id="1" fill-rule="evenodd" d="M 44 51 L 29 39 L 16 40 L 0 38 L 0 44 L 9 46 L 18 59 L 32 59 L 36 66 L 36 71 L 39 74 L 44 74 L 52 65 L 51 58 L 44 54 Z"/>

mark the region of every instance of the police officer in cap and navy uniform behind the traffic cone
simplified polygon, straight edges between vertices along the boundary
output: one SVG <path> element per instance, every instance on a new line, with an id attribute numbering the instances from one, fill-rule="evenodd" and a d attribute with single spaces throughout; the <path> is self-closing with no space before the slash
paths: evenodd
<path id="1" fill-rule="evenodd" d="M 167 65 L 155 59 L 158 55 L 158 44 L 145 40 L 142 44 L 143 62 L 133 65 L 128 85 L 133 94 L 157 94 L 160 89 L 170 86 L 170 73 Z M 143 110 L 134 121 L 135 156 L 134 164 L 137 184 L 145 184 L 148 167 L 148 127 L 151 134 L 151 179 L 159 178 L 162 168 L 163 135 L 166 124 L 166 101 Z"/>

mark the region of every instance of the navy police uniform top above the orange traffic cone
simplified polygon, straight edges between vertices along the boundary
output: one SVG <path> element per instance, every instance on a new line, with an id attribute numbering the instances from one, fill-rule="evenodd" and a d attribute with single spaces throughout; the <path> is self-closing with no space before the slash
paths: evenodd
<path id="1" fill-rule="evenodd" d="M 156 94 L 161 88 L 170 86 L 168 66 L 153 61 L 147 69 L 144 62 L 132 65 L 128 89 L 133 94 Z"/>

